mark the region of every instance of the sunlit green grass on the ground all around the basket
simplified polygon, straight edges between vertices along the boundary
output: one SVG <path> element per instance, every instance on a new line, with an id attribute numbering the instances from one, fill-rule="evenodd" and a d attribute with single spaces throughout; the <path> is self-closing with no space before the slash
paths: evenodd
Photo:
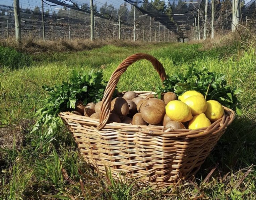
<path id="1" fill-rule="evenodd" d="M 3 47 L 2 47 L 3 48 Z M 167 74 L 188 66 L 227 75 L 233 87 L 243 88 L 238 97 L 243 115 L 227 129 L 202 165 L 194 182 L 155 190 L 141 189 L 139 180 L 113 180 L 98 174 L 82 159 L 66 129 L 48 137 L 44 130 L 26 132 L 19 148 L 0 148 L 0 199 L 255 199 L 256 163 L 256 59 L 255 48 L 242 50 L 239 43 L 203 48 L 201 44 L 160 44 L 144 46 L 106 45 L 81 52 L 29 54 L 31 63 L 5 65 L 0 74 L 0 123 L 18 124 L 22 118 L 35 119 L 44 104 L 44 84 L 53 86 L 67 80 L 73 69 L 102 69 L 108 80 L 128 55 L 145 52 L 163 64 Z M 161 84 L 147 61 L 130 66 L 118 88 L 154 91 Z M 210 178 L 205 177 L 214 170 Z M 63 176 L 63 169 L 66 175 Z"/>

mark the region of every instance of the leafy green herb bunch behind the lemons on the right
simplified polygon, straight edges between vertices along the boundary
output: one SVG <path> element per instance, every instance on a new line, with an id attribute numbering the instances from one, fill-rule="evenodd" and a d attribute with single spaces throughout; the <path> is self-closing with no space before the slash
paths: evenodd
<path id="1" fill-rule="evenodd" d="M 171 91 L 179 96 L 186 91 L 196 90 L 206 95 L 206 100 L 216 100 L 222 105 L 236 110 L 238 115 L 242 114 L 236 97 L 242 90 L 228 85 L 224 74 L 209 72 L 206 68 L 198 69 L 192 66 L 184 74 L 175 73 L 173 76 L 168 76 L 163 85 L 156 88 L 159 98 L 163 92 Z"/>

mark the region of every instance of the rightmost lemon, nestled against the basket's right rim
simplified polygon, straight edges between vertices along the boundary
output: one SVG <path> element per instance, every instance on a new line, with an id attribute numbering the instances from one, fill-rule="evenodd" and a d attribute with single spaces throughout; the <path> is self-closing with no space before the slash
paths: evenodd
<path id="1" fill-rule="evenodd" d="M 219 102 L 215 100 L 207 101 L 207 109 L 205 111 L 205 115 L 209 120 L 216 121 L 221 118 L 223 114 L 224 109 Z"/>

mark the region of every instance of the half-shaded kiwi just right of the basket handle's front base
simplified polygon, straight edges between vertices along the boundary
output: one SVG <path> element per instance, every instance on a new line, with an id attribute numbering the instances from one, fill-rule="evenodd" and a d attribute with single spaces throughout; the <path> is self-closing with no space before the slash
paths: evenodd
<path id="1" fill-rule="evenodd" d="M 126 116 L 129 112 L 129 105 L 124 98 L 117 97 L 111 102 L 111 111 L 114 111 L 116 114 Z"/>

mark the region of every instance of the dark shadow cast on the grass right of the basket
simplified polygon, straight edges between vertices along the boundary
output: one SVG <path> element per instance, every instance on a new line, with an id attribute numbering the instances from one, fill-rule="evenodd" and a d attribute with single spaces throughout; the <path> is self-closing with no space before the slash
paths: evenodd
<path id="1" fill-rule="evenodd" d="M 206 177 L 216 164 L 215 174 L 239 171 L 256 164 L 256 121 L 236 118 L 206 158 L 196 178 Z M 212 175 L 214 176 L 214 174 Z M 218 176 L 218 175 L 217 175 Z"/>

